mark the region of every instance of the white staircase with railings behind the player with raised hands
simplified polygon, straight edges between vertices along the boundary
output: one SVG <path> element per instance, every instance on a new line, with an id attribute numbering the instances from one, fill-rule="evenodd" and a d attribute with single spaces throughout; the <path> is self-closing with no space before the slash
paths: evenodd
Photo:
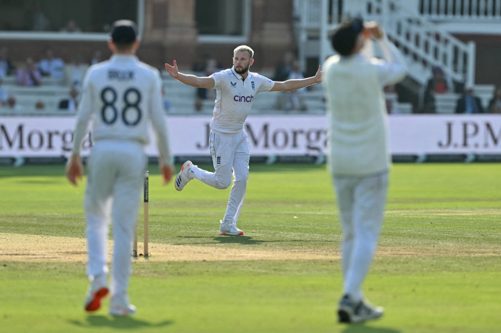
<path id="1" fill-rule="evenodd" d="M 308 39 L 305 35 L 316 34 L 320 39 L 320 62 L 323 62 L 328 56 L 334 54 L 328 33 L 334 30 L 343 19 L 361 15 L 365 20 L 381 22 L 388 37 L 407 59 L 410 77 L 418 83 L 426 84 L 431 76 L 431 68 L 440 66 L 450 79 L 474 84 L 475 44 L 460 41 L 428 20 L 427 16 L 420 14 L 419 8 L 409 7 L 410 3 L 417 6 L 417 2 L 409 0 L 296 0 L 300 57 L 306 52 L 301 49 L 305 40 Z M 420 2 L 422 5 L 427 5 L 430 1 Z M 452 2 L 448 1 L 448 3 Z M 430 3 L 432 7 L 434 3 L 437 8 L 440 8 L 440 3 L 445 3 L 445 1 L 435 0 Z"/>

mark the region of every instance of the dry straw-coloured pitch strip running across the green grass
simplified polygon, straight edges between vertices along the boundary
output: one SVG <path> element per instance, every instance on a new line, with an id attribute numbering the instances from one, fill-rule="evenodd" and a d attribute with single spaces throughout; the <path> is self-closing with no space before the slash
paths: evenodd
<path id="1" fill-rule="evenodd" d="M 85 238 L 0 233 L 0 261 L 86 262 Z M 109 242 L 109 251 L 113 242 Z M 138 250 L 142 252 L 142 243 Z M 339 259 L 339 250 L 256 250 L 150 243 L 151 261 Z M 379 247 L 377 256 L 499 256 L 499 249 Z M 111 259 L 111 255 L 110 255 Z"/>

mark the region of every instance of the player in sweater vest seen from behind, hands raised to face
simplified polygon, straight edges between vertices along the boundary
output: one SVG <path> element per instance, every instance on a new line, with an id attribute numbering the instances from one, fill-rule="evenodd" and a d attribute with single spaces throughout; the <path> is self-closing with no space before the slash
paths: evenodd
<path id="1" fill-rule="evenodd" d="M 385 61 L 361 54 L 375 37 Z M 360 322 L 383 315 L 381 307 L 364 301 L 362 283 L 376 250 L 388 188 L 390 152 L 383 87 L 406 75 L 405 60 L 376 22 L 357 18 L 332 37 L 339 55 L 324 64 L 330 143 L 343 238 L 344 295 L 339 321 Z"/>

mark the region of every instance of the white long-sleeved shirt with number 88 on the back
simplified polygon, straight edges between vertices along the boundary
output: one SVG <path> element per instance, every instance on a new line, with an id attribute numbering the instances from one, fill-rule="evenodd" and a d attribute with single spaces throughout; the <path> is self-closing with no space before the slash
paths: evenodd
<path id="1" fill-rule="evenodd" d="M 160 160 L 171 163 L 158 69 L 134 55 L 113 55 L 92 65 L 84 78 L 82 100 L 73 140 L 79 153 L 91 118 L 92 139 L 134 140 L 149 143 L 148 122 L 156 134 Z"/>

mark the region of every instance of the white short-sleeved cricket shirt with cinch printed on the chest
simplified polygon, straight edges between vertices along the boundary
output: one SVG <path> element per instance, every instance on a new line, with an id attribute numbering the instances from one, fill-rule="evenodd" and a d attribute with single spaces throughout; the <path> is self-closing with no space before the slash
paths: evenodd
<path id="1" fill-rule="evenodd" d="M 238 133 L 249 115 L 250 105 L 260 91 L 269 91 L 275 85 L 271 79 L 248 72 L 243 77 L 230 69 L 210 75 L 214 79 L 216 100 L 210 128 L 222 133 Z"/>

